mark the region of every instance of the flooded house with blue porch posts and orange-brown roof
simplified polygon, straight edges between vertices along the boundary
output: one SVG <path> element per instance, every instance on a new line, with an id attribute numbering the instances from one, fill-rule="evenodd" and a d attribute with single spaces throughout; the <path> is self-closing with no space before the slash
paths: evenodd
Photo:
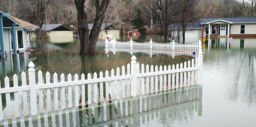
<path id="1" fill-rule="evenodd" d="M 0 47 L 1 57 L 4 52 L 16 50 L 26 51 L 30 48 L 30 31 L 38 26 L 27 21 L 20 20 L 0 10 Z M 12 32 L 15 31 L 15 32 Z"/>

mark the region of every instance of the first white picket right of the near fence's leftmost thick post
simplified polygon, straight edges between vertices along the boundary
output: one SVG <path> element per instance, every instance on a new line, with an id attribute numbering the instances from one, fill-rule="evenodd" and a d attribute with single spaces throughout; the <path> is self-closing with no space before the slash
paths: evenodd
<path id="1" fill-rule="evenodd" d="M 38 71 L 38 84 L 43 84 L 43 73 L 41 70 Z M 39 100 L 39 112 L 43 113 L 43 89 L 38 90 L 38 100 Z"/>

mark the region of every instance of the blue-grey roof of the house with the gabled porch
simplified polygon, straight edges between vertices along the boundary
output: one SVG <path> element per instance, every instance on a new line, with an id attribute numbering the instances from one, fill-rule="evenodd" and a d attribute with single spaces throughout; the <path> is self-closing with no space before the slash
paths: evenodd
<path id="1" fill-rule="evenodd" d="M 237 18 L 201 18 L 200 23 L 205 24 L 215 20 L 224 20 L 232 23 L 253 23 L 256 22 L 256 17 L 237 17 Z"/>

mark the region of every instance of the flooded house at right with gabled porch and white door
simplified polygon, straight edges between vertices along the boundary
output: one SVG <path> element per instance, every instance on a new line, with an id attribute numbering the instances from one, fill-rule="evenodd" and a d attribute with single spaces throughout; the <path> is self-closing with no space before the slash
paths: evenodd
<path id="1" fill-rule="evenodd" d="M 206 37 L 256 37 L 256 17 L 202 18 Z"/>

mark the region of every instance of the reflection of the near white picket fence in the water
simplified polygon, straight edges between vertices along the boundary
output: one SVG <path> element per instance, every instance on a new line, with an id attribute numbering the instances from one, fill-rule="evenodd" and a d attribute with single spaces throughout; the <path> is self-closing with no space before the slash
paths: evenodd
<path id="1" fill-rule="evenodd" d="M 157 94 L 101 102 L 30 117 L 2 121 L 0 126 L 142 126 L 160 117 L 169 122 L 202 115 L 202 86 L 188 86 Z M 167 114 L 167 115 L 165 115 Z M 168 115 L 170 114 L 170 115 Z M 161 120 L 161 119 L 158 119 Z M 164 123 L 164 122 L 163 122 Z M 170 124 L 170 123 L 164 123 Z"/>

